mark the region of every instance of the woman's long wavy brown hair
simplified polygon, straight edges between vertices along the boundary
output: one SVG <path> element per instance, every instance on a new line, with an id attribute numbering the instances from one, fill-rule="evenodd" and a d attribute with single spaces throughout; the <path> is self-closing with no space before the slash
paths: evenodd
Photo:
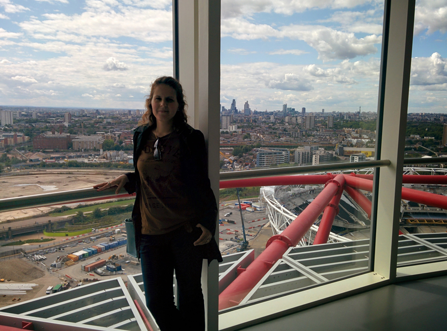
<path id="1" fill-rule="evenodd" d="M 178 102 L 178 110 L 174 115 L 173 125 L 174 129 L 178 130 L 180 127 L 182 127 L 188 122 L 188 117 L 186 115 L 186 108 L 188 108 L 188 105 L 185 100 L 185 95 L 183 94 L 182 85 L 175 78 L 169 76 L 158 77 L 150 86 L 150 93 L 149 95 L 146 96 L 145 101 L 146 112 L 143 114 L 141 120 L 138 122 L 138 125 L 147 125 L 153 128 L 157 127 L 157 120 L 152 113 L 151 102 L 153 97 L 153 91 L 155 87 L 157 87 L 160 84 L 168 85 L 175 90 Z"/>

